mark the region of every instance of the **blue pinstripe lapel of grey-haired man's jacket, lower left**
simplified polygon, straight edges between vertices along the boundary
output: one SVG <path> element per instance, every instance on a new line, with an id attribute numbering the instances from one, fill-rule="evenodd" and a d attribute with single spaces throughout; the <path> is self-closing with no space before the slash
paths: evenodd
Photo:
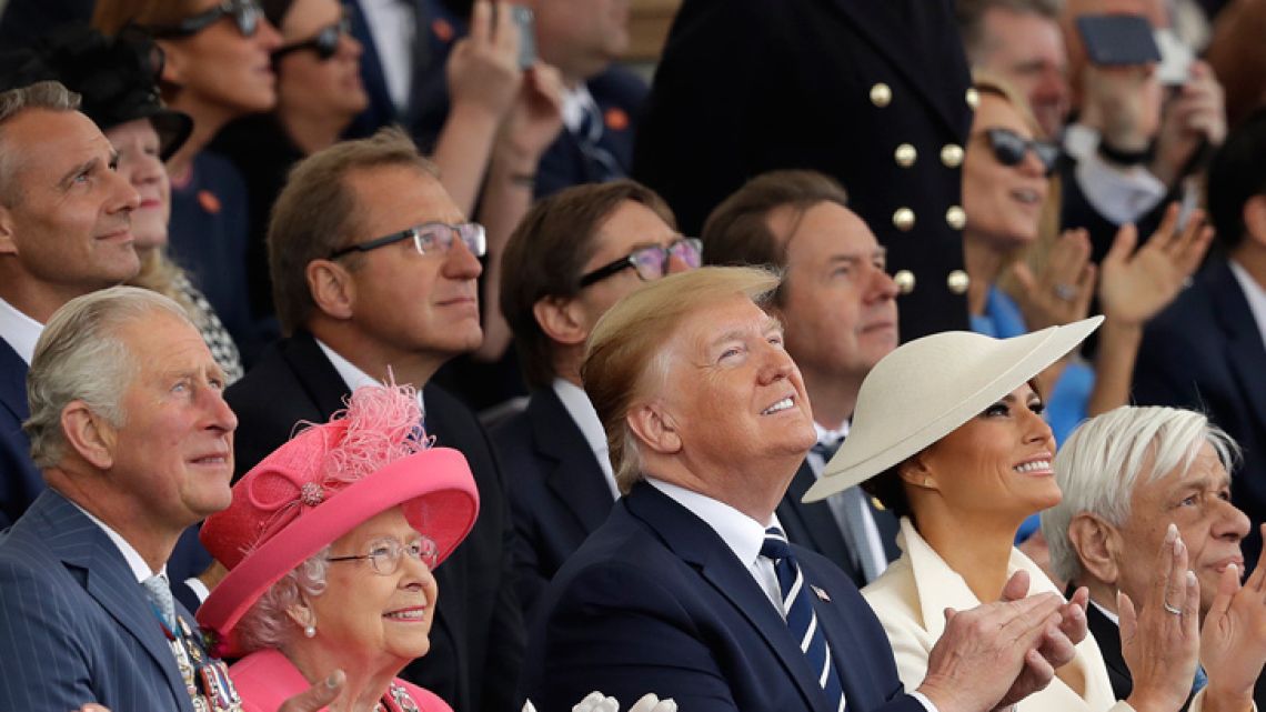
<path id="1" fill-rule="evenodd" d="M 30 505 L 38 528 L 54 556 L 70 569 L 84 588 L 119 626 L 137 639 L 154 665 L 162 670 L 173 699 L 182 711 L 191 709 L 185 683 L 176 669 L 176 658 L 146 601 L 141 584 L 114 542 L 77 507 L 61 494 L 47 490 Z"/>

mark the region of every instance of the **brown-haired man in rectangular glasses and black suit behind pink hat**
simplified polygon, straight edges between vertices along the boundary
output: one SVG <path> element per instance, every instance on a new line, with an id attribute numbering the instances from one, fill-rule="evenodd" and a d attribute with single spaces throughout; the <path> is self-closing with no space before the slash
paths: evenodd
<path id="1" fill-rule="evenodd" d="M 428 383 L 480 345 L 475 280 L 485 247 L 484 228 L 466 222 L 399 129 L 314 153 L 291 172 L 268 232 L 289 336 L 227 394 L 242 421 L 241 474 L 298 423 L 327 421 L 360 385 L 394 379 L 419 390 L 427 432 L 466 456 L 481 504 L 470 536 L 436 570 L 444 595 L 430 654 L 403 677 L 458 712 L 510 709 L 508 680 L 523 649 L 501 471 L 475 416 Z"/>

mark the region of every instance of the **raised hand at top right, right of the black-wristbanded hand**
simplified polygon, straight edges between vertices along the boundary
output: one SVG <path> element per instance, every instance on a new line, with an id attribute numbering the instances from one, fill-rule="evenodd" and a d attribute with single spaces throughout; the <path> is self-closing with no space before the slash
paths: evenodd
<path id="1" fill-rule="evenodd" d="M 1227 138 L 1227 99 L 1213 68 L 1196 60 L 1190 71 L 1186 84 L 1165 104 L 1156 137 L 1156 158 L 1151 168 L 1166 185 L 1181 177 L 1182 168 L 1203 142 L 1220 146 Z"/>

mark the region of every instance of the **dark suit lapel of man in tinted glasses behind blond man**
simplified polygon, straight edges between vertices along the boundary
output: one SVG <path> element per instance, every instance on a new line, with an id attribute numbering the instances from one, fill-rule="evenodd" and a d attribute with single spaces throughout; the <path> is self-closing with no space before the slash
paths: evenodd
<path id="1" fill-rule="evenodd" d="M 592 532 L 606 521 L 613 498 L 589 441 L 552 388 L 537 391 L 528 403 L 528 422 L 537 450 L 555 462 L 546 475 L 551 492 Z"/>

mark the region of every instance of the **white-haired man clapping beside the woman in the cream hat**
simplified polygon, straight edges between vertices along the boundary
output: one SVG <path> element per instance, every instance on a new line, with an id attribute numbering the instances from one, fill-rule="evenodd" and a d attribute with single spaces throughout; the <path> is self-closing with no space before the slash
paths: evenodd
<path id="1" fill-rule="evenodd" d="M 1055 574 L 1070 587 L 1090 589 L 1090 632 L 1118 699 L 1133 688 L 1120 646 L 1118 595 L 1147 598 L 1153 554 L 1176 532 L 1200 583 L 1201 647 L 1236 650 L 1222 658 L 1232 665 L 1198 671 L 1193 692 L 1208 684 L 1206 701 L 1219 699 L 1224 709 L 1247 708 L 1250 693 L 1258 704 L 1266 702 L 1253 689 L 1266 663 L 1266 571 L 1258 565 L 1239 587 L 1239 542 L 1250 522 L 1231 503 L 1228 470 L 1237 457 L 1234 441 L 1201 413 L 1131 405 L 1082 423 L 1055 457 L 1063 500 L 1042 512 L 1042 532 Z M 1253 625 L 1227 625 L 1232 609 L 1247 613 Z M 1232 636 L 1219 639 L 1219 630 Z"/>

